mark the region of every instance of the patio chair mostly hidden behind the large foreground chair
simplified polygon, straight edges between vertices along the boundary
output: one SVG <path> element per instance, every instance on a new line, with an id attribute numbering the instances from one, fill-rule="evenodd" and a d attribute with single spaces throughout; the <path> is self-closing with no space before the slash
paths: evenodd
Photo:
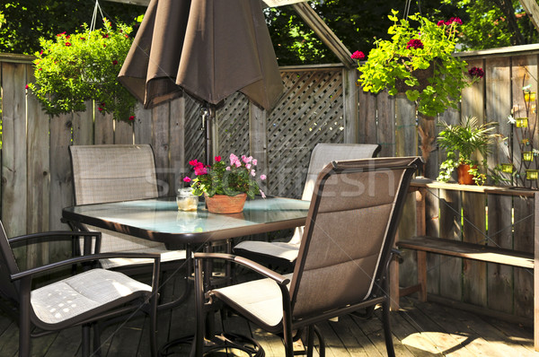
<path id="1" fill-rule="evenodd" d="M 318 173 L 331 161 L 367 159 L 376 157 L 379 144 L 316 144 L 311 153 L 305 187 L 301 199 L 310 200 Z M 243 240 L 233 248 L 234 254 L 247 257 L 270 267 L 291 270 L 296 263 L 304 227 L 296 228 L 287 242 Z"/>

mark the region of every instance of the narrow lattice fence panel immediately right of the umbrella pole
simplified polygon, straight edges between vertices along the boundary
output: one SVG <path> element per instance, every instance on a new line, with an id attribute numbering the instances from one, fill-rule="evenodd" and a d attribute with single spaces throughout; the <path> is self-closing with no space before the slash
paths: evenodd
<path id="1" fill-rule="evenodd" d="M 249 100 L 236 92 L 225 99 L 225 104 L 216 113 L 218 150 L 216 153 L 228 157 L 249 154 Z"/>

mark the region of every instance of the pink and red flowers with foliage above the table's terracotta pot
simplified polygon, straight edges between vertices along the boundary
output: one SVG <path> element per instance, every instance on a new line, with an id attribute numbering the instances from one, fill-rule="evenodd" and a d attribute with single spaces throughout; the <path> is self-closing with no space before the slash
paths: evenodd
<path id="1" fill-rule="evenodd" d="M 250 198 L 258 194 L 265 197 L 255 179 L 257 161 L 251 156 L 242 155 L 238 158 L 231 153 L 228 164 L 221 159 L 221 156 L 216 156 L 213 166 L 205 165 L 197 160 L 189 161 L 189 163 L 195 171 L 196 178 L 191 180 L 186 177 L 183 181 L 191 183 L 194 195 L 206 194 L 212 197 L 246 193 Z M 261 175 L 260 179 L 264 180 L 266 176 Z"/>

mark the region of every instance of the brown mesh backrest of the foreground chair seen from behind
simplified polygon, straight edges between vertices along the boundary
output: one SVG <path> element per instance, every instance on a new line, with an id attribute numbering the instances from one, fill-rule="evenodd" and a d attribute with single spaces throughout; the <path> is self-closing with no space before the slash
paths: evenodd
<path id="1" fill-rule="evenodd" d="M 291 282 L 293 318 L 380 293 L 404 198 L 420 163 L 417 157 L 337 161 L 322 170 Z"/>

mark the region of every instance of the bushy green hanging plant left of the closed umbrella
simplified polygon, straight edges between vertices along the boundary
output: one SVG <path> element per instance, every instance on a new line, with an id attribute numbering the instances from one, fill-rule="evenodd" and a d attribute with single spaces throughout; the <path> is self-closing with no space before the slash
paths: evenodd
<path id="1" fill-rule="evenodd" d="M 84 24 L 80 32 L 40 39 L 35 82 L 28 88 L 48 114 L 84 111 L 85 101 L 95 100 L 102 114 L 127 122 L 135 118 L 137 100 L 117 79 L 131 47 L 131 28 L 119 24 L 113 29 L 106 19 L 103 24 L 100 30 L 89 30 Z"/>

